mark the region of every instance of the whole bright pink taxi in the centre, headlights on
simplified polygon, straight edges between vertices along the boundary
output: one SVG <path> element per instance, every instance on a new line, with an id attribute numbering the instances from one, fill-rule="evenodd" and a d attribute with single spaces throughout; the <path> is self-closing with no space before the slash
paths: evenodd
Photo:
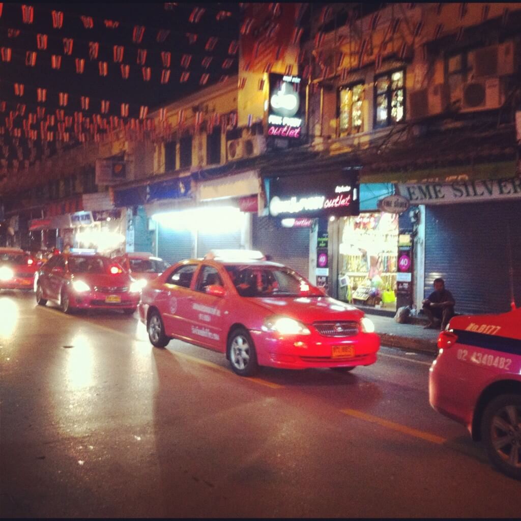
<path id="1" fill-rule="evenodd" d="M 258 366 L 349 371 L 374 364 L 380 347 L 362 311 L 263 260 L 182 261 L 143 289 L 139 313 L 153 345 L 177 338 L 225 353 L 241 376 Z"/>

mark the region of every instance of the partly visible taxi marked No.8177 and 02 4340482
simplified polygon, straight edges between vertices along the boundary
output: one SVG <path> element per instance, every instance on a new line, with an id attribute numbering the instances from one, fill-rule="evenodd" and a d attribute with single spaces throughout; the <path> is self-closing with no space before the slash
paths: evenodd
<path id="1" fill-rule="evenodd" d="M 491 462 L 521 479 L 521 308 L 456 316 L 429 374 L 433 408 L 482 440 Z"/>

